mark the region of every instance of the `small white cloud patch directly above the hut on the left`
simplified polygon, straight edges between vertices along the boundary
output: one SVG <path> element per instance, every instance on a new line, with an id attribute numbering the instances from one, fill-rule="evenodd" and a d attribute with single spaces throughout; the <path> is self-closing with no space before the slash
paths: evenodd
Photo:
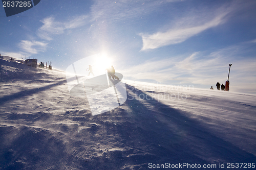
<path id="1" fill-rule="evenodd" d="M 38 52 L 42 52 L 46 49 L 47 43 L 39 42 L 39 41 L 28 41 L 22 40 L 18 47 L 22 49 L 22 51 L 27 52 L 28 54 L 37 54 Z"/>

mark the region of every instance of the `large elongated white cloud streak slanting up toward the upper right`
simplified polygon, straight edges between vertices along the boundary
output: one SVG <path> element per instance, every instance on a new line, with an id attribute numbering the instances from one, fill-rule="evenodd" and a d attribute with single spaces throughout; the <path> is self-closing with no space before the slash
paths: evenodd
<path id="1" fill-rule="evenodd" d="M 154 34 L 140 33 L 143 41 L 141 50 L 181 43 L 202 31 L 221 25 L 232 10 L 232 7 L 219 8 L 215 12 L 202 12 L 203 16 L 200 14 L 191 16 L 188 12 L 186 17 L 176 19 L 176 22 L 170 26 L 172 28 L 167 31 L 159 31 Z"/>

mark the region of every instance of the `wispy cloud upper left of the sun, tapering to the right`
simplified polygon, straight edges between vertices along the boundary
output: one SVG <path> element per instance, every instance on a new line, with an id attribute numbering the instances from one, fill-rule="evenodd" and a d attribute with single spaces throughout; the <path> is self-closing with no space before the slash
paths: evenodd
<path id="1" fill-rule="evenodd" d="M 47 17 L 41 20 L 44 25 L 38 29 L 37 36 L 50 41 L 52 40 L 52 35 L 63 34 L 66 29 L 74 29 L 83 26 L 86 23 L 86 18 L 88 18 L 88 16 L 82 15 L 68 21 L 60 22 L 56 21 L 54 17 Z"/>

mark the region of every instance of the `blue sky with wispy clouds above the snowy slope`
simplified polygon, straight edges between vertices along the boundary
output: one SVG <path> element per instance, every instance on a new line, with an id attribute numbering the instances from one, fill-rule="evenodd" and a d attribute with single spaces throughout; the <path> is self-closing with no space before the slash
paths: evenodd
<path id="1" fill-rule="evenodd" d="M 256 1 L 51 1 L 6 17 L 0 53 L 65 70 L 97 53 L 125 79 L 256 93 Z"/>

